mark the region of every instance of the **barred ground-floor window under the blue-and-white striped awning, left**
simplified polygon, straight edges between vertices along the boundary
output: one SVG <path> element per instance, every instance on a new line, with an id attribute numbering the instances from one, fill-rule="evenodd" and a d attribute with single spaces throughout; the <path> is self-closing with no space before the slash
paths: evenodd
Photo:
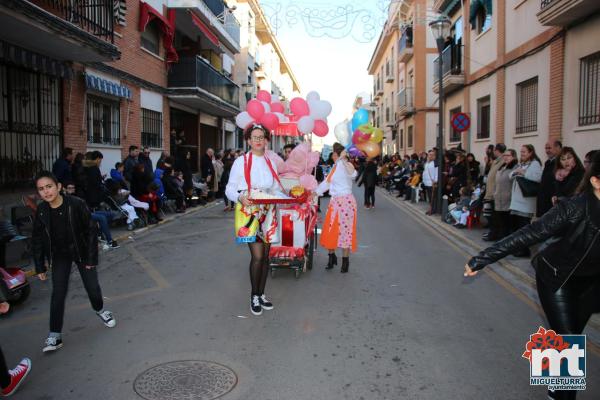
<path id="1" fill-rule="evenodd" d="M 121 115 L 118 100 L 88 95 L 88 143 L 121 144 Z"/>

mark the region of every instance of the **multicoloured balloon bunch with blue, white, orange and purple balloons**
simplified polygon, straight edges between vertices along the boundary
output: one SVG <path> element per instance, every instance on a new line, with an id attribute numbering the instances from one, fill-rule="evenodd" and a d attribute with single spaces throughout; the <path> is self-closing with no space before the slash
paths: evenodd
<path id="1" fill-rule="evenodd" d="M 354 113 L 352 121 L 337 124 L 334 134 L 351 157 L 374 158 L 381 154 L 379 143 L 383 140 L 383 131 L 369 122 L 369 112 L 364 108 Z"/>

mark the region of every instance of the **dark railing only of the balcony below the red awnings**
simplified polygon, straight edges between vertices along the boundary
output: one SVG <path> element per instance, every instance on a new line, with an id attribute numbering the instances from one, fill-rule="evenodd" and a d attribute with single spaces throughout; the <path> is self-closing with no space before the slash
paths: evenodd
<path id="1" fill-rule="evenodd" d="M 202 57 L 183 57 L 169 71 L 169 87 L 201 88 L 239 107 L 239 86 Z"/>

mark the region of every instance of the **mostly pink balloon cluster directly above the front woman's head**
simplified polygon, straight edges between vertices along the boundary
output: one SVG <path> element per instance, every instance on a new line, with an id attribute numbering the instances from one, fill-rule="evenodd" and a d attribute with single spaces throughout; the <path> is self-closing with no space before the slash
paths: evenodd
<path id="1" fill-rule="evenodd" d="M 256 99 L 248 102 L 246 111 L 235 117 L 235 123 L 242 129 L 246 129 L 252 124 L 261 124 L 273 131 L 281 122 L 289 122 L 284 113 L 285 107 L 279 101 L 279 96 L 271 96 L 271 93 L 266 90 L 260 90 Z"/>

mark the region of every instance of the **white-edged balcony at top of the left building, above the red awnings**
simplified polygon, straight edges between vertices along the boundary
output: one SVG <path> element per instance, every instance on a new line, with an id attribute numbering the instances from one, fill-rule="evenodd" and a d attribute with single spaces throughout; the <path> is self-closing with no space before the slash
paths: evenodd
<path id="1" fill-rule="evenodd" d="M 222 0 L 168 0 L 167 5 L 176 10 L 177 30 L 194 37 L 198 29 L 190 21 L 188 11 L 191 11 L 225 47 L 234 54 L 240 52 L 240 24 L 229 9 L 225 8 Z"/>

